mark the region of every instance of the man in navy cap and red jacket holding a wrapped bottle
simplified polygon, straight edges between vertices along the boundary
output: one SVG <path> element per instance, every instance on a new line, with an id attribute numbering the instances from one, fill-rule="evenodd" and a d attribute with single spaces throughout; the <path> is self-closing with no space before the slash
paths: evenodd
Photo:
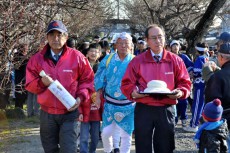
<path id="1" fill-rule="evenodd" d="M 86 57 L 66 46 L 67 29 L 61 21 L 52 21 L 46 31 L 48 44 L 29 60 L 26 89 L 37 94 L 41 105 L 40 136 L 46 153 L 76 153 L 77 107 L 89 100 L 93 92 L 94 74 Z M 40 77 L 44 70 L 49 76 Z M 76 98 L 67 110 L 48 86 L 58 80 Z"/>

